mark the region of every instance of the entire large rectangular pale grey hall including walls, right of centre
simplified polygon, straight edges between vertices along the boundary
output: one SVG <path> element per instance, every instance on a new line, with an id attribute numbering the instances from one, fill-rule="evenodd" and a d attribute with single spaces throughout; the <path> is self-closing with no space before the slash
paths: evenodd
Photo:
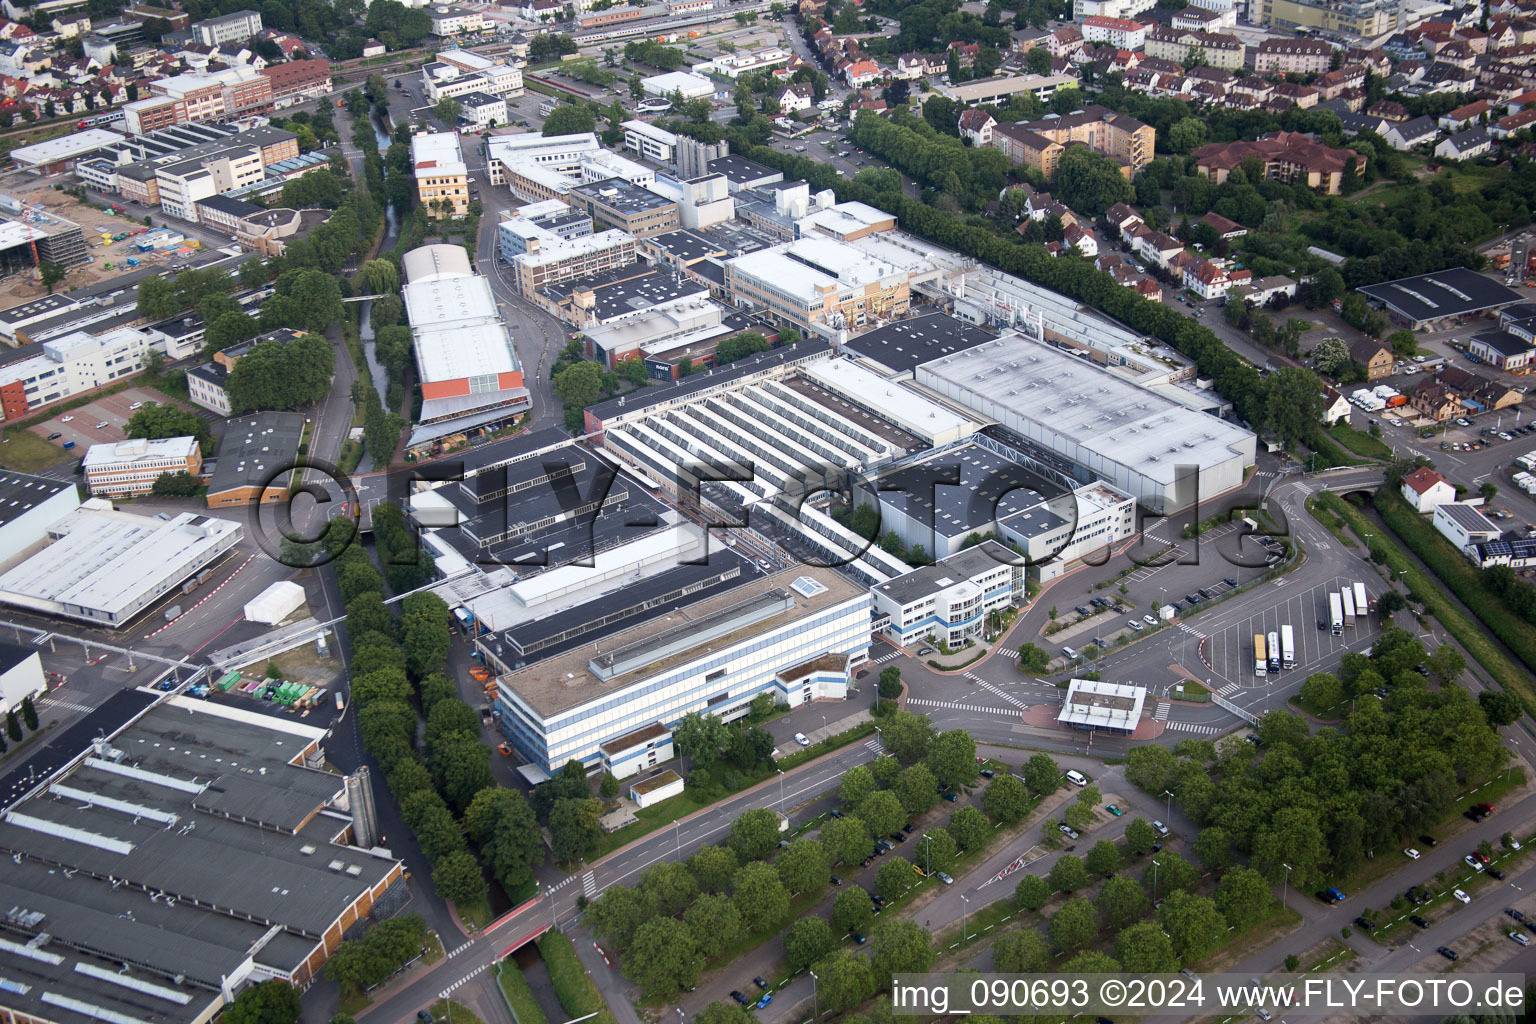
<path id="1" fill-rule="evenodd" d="M 917 382 L 997 421 L 1040 462 L 1107 481 L 1157 514 L 1240 487 L 1255 459 L 1252 431 L 1020 335 L 925 362 Z"/>

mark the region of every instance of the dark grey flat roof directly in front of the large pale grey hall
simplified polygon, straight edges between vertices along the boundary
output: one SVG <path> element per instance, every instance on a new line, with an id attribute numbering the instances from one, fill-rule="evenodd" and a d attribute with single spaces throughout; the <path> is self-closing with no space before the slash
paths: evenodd
<path id="1" fill-rule="evenodd" d="M 1061 493 L 1054 481 L 975 444 L 885 470 L 874 488 L 882 505 L 943 537 L 985 533 L 997 520 Z"/>

